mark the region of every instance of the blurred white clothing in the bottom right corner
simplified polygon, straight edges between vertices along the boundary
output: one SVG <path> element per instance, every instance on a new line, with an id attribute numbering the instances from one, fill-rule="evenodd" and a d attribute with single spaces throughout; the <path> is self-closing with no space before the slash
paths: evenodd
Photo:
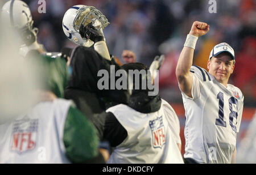
<path id="1" fill-rule="evenodd" d="M 237 150 L 237 163 L 256 163 L 256 112 Z"/>

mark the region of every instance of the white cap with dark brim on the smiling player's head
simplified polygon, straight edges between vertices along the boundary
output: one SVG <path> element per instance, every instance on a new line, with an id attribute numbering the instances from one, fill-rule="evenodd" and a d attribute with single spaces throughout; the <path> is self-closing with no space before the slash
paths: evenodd
<path id="1" fill-rule="evenodd" d="M 218 54 L 222 52 L 228 52 L 230 56 L 232 56 L 232 58 L 235 59 L 234 49 L 226 42 L 221 42 L 220 44 L 214 46 L 212 51 L 210 51 L 209 59 L 212 57 L 216 57 Z"/>

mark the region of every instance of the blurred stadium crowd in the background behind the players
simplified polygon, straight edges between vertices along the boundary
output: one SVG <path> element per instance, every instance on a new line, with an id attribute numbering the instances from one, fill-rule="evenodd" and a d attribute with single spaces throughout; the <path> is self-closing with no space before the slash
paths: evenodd
<path id="1" fill-rule="evenodd" d="M 39 28 L 39 43 L 49 52 L 75 46 L 65 37 L 61 23 L 69 7 L 81 4 L 98 8 L 108 18 L 110 25 L 104 33 L 109 52 L 121 61 L 123 49 L 133 50 L 137 61 L 148 66 L 156 54 L 165 54 L 166 60 L 159 71 L 159 92 L 179 116 L 183 153 L 185 116 L 175 67 L 193 21 L 208 23 L 210 31 L 197 42 L 194 63 L 207 69 L 210 50 L 217 43 L 228 42 L 234 48 L 236 67 L 229 83 L 239 87 L 245 96 L 237 135 L 239 147 L 256 110 L 254 0 L 216 0 L 216 13 L 209 12 L 210 0 L 46 0 L 46 14 L 39 14 L 38 0 L 23 1 L 30 6 L 35 27 Z"/>

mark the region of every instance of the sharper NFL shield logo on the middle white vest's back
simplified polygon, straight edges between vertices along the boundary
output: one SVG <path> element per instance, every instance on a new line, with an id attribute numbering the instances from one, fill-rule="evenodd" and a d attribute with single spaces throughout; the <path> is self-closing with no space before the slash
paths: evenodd
<path id="1" fill-rule="evenodd" d="M 152 133 L 153 147 L 162 149 L 163 145 L 166 143 L 163 117 L 157 117 L 150 121 L 149 125 Z"/>

